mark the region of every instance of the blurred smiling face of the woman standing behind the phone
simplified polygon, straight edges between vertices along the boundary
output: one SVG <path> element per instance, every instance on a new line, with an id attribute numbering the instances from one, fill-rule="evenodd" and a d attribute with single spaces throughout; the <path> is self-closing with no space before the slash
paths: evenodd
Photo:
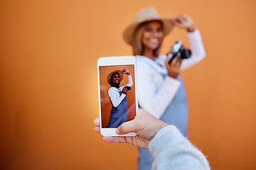
<path id="1" fill-rule="evenodd" d="M 159 21 L 150 21 L 146 23 L 142 36 L 144 52 L 156 50 L 161 45 L 163 38 L 164 33 Z"/>

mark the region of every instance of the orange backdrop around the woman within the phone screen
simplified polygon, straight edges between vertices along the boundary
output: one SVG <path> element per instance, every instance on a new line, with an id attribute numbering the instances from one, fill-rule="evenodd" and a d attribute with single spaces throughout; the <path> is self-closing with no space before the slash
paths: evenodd
<path id="1" fill-rule="evenodd" d="M 136 103 L 135 103 L 135 91 L 134 91 L 134 65 L 122 65 L 122 66 L 107 66 L 100 67 L 100 98 L 101 98 L 101 117 L 102 117 L 102 128 L 106 128 L 108 122 L 110 121 L 110 111 L 112 105 L 110 103 L 110 96 L 108 91 L 110 89 L 110 84 L 107 83 L 107 76 L 110 72 L 114 70 L 128 69 L 129 73 L 132 75 L 133 85 L 131 89 L 127 92 L 127 121 L 134 119 L 136 115 Z M 128 84 L 127 74 L 123 74 L 123 79 L 120 86 L 125 86 Z"/>

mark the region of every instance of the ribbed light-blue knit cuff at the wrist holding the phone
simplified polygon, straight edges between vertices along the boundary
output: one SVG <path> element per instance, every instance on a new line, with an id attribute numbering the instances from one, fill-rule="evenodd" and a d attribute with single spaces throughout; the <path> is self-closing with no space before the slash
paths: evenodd
<path id="1" fill-rule="evenodd" d="M 172 147 L 177 147 L 184 143 L 189 143 L 181 132 L 174 125 L 161 128 L 154 138 L 149 142 L 148 149 L 155 159 L 162 151 Z"/>

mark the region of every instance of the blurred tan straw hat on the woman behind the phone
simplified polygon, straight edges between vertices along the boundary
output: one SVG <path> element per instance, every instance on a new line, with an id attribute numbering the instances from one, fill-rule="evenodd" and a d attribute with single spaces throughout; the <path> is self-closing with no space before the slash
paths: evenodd
<path id="1" fill-rule="evenodd" d="M 149 6 L 139 11 L 134 17 L 132 23 L 124 30 L 124 41 L 127 42 L 129 45 L 132 45 L 132 37 L 134 31 L 140 24 L 147 21 L 161 21 L 164 27 L 164 35 L 170 33 L 172 28 L 174 28 L 174 24 L 171 22 L 171 18 L 160 17 L 156 9 L 152 6 Z"/>

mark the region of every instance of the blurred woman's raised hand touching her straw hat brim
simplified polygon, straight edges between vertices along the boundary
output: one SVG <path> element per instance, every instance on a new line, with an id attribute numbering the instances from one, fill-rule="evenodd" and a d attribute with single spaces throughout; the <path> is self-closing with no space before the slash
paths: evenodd
<path id="1" fill-rule="evenodd" d="M 172 22 L 174 23 L 174 26 L 177 26 L 178 28 L 185 28 L 188 30 L 188 32 L 193 32 L 196 28 L 193 24 L 192 18 L 186 14 L 177 16 L 176 18 L 172 19 Z"/>

